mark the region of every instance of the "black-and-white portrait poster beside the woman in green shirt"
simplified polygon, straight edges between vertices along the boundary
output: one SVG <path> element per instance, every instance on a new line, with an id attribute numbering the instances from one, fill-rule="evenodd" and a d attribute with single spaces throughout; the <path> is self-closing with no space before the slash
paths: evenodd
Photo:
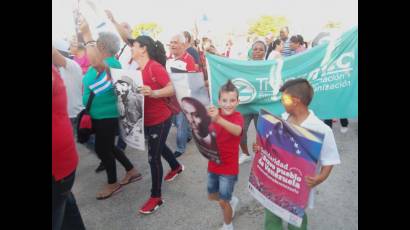
<path id="1" fill-rule="evenodd" d="M 145 151 L 144 95 L 138 92 L 142 86 L 141 71 L 110 69 L 117 95 L 121 138 L 127 146 Z"/>

